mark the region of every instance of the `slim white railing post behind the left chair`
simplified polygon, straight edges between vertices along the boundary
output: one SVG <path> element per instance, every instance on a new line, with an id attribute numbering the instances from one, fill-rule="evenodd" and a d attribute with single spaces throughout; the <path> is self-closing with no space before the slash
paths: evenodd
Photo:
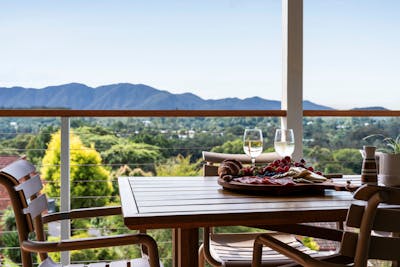
<path id="1" fill-rule="evenodd" d="M 69 117 L 61 117 L 61 189 L 60 189 L 60 201 L 61 201 L 61 212 L 69 212 L 71 209 L 70 203 L 70 162 L 69 162 Z M 71 222 L 70 220 L 61 221 L 61 239 L 69 239 L 71 233 Z M 70 254 L 68 251 L 61 252 L 61 264 L 70 264 Z"/>

